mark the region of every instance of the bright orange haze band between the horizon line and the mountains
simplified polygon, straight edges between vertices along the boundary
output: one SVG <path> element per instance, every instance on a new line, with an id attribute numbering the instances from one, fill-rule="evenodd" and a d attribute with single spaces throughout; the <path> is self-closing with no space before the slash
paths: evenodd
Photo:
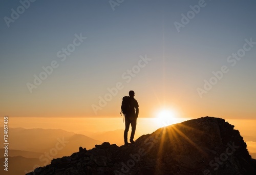
<path id="1" fill-rule="evenodd" d="M 165 112 L 164 112 L 165 113 Z M 160 113 L 161 114 L 161 113 Z M 166 114 L 166 113 L 165 113 Z M 168 124 L 181 123 L 192 118 L 172 118 L 168 120 Z M 174 122 L 175 121 L 175 122 Z M 234 125 L 234 129 L 238 129 L 241 136 L 244 137 L 244 141 L 247 144 L 247 148 L 250 152 L 256 153 L 256 120 L 241 120 L 241 119 L 226 119 L 227 122 Z M 173 122 L 173 123 L 172 123 Z M 3 118 L 0 119 L 0 123 L 3 123 Z M 142 135 L 151 134 L 160 127 L 165 127 L 166 123 L 159 118 L 138 118 L 137 128 L 135 133 L 135 140 Z M 94 134 L 100 134 L 109 131 L 123 132 L 124 123 L 122 117 L 115 118 L 42 118 L 42 117 L 9 117 L 10 128 L 42 128 L 42 129 L 62 129 L 67 132 L 73 132 L 76 134 L 82 134 L 85 136 L 93 136 Z M 131 129 L 130 131 L 131 132 Z M 115 136 L 113 136 L 115 137 Z M 254 138 L 254 139 L 253 139 Z M 122 136 L 119 138 L 118 145 L 123 142 Z M 113 144 L 113 143 L 112 143 Z"/>

